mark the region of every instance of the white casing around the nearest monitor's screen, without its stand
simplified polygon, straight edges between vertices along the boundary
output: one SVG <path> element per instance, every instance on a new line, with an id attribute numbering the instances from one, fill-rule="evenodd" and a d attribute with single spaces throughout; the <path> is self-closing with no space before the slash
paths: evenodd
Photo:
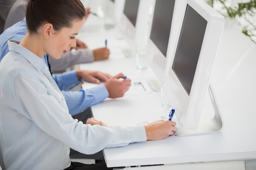
<path id="1" fill-rule="evenodd" d="M 207 20 L 204 40 L 189 95 L 172 69 L 187 4 Z M 166 55 L 166 73 L 168 73 L 166 86 L 170 86 L 170 103 L 175 108 L 175 115 L 177 115 L 180 125 L 183 128 L 195 130 L 198 126 L 204 98 L 209 88 L 209 81 L 224 22 L 224 17 L 203 0 L 175 1 L 170 33 L 171 38 L 169 38 Z"/>

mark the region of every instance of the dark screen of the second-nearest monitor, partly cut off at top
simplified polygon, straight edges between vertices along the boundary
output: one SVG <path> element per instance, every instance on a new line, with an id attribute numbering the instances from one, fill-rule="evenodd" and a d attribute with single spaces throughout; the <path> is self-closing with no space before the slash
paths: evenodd
<path id="1" fill-rule="evenodd" d="M 150 39 L 166 57 L 175 0 L 156 0 Z"/>

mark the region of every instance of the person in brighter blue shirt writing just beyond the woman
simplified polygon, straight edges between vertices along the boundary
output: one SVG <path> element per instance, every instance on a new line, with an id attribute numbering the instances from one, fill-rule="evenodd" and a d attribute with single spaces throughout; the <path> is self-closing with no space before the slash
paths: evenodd
<path id="1" fill-rule="evenodd" d="M 26 19 L 24 18 L 24 20 L 17 22 L 0 35 L 0 62 L 9 52 L 7 41 L 10 39 L 22 40 L 26 32 L 27 24 Z M 43 57 L 43 60 L 48 66 L 46 55 Z M 107 97 L 123 97 L 124 93 L 128 91 L 131 82 L 130 79 L 126 79 L 125 81 L 118 80 L 119 78 L 124 78 L 122 73 L 111 77 L 110 75 L 99 71 L 68 71 L 65 73 L 53 74 L 52 77 L 66 99 L 70 115 L 81 113 L 86 108 L 102 102 Z M 100 81 L 98 78 L 107 82 L 86 90 L 68 91 L 81 83 L 82 79 L 99 84 Z"/>

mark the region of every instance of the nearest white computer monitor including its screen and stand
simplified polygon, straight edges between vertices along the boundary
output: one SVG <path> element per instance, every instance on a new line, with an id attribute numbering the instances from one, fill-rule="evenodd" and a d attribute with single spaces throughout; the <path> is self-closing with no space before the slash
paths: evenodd
<path id="1" fill-rule="evenodd" d="M 213 119 L 207 120 L 218 119 L 217 124 L 200 124 L 200 114 L 209 90 L 210 95 L 213 95 L 214 107 L 218 106 L 209 83 L 224 27 L 224 17 L 203 0 L 179 0 L 177 3 L 179 5 L 175 5 L 172 25 L 178 29 L 171 30 L 170 34 L 175 43 L 172 42 L 167 53 L 166 86 L 170 87 L 171 107 L 175 108 L 182 126 L 178 134 L 219 132 L 222 129 L 222 119 L 218 113 Z M 174 40 L 169 40 L 169 44 Z M 216 110 L 218 112 L 218 108 Z"/>

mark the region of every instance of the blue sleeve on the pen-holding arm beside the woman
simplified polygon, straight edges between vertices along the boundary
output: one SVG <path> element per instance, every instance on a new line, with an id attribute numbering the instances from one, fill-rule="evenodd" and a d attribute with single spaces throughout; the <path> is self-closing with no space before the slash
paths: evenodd
<path id="1" fill-rule="evenodd" d="M 86 108 L 102 102 L 109 95 L 103 84 L 86 90 L 62 91 L 62 94 L 66 99 L 70 115 L 81 113 Z"/>

